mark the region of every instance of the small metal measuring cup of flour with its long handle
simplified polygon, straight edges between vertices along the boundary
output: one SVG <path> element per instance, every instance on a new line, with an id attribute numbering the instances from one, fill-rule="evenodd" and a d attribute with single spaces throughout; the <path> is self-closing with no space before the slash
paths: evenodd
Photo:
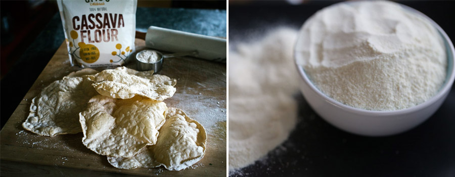
<path id="1" fill-rule="evenodd" d="M 147 50 L 141 51 L 136 54 L 135 59 L 136 59 L 136 69 L 138 71 L 149 71 L 153 70 L 153 73 L 157 73 L 161 71 L 161 68 L 163 67 L 163 59 L 165 58 L 172 58 L 172 57 L 183 57 L 183 56 L 196 56 L 198 55 L 198 51 L 190 51 L 190 52 L 180 52 L 180 53 L 174 53 L 174 54 L 166 54 L 163 55 L 161 52 L 155 51 L 155 50 L 148 50 L 148 51 L 155 51 L 158 56 L 161 56 L 161 58 L 155 62 L 155 63 L 146 63 L 138 60 L 138 55 L 145 52 Z"/>

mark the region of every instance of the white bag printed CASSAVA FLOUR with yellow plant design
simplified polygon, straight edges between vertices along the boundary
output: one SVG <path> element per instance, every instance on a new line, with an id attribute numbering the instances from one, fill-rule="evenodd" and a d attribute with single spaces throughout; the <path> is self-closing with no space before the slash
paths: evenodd
<path id="1" fill-rule="evenodd" d="M 58 0 L 71 65 L 122 65 L 134 51 L 137 1 Z"/>

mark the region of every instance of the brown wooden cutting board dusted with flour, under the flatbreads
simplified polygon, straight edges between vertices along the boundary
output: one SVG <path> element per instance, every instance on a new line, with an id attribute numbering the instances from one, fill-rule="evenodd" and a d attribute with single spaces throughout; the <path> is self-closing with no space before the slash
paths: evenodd
<path id="1" fill-rule="evenodd" d="M 145 41 L 136 39 L 135 45 L 136 51 L 141 51 L 145 48 Z M 135 69 L 134 61 L 126 66 Z M 45 86 L 80 69 L 82 68 L 78 66 L 70 66 L 66 43 L 63 42 L 0 131 L 2 176 L 80 176 L 84 174 L 91 176 L 106 173 L 147 176 L 226 176 L 225 63 L 185 57 L 170 58 L 165 59 L 163 69 L 158 73 L 177 79 L 176 93 L 172 98 L 164 101 L 167 106 L 183 109 L 189 117 L 199 121 L 207 131 L 207 150 L 204 158 L 180 171 L 169 171 L 163 167 L 118 169 L 109 164 L 106 156 L 87 149 L 81 142 L 82 133 L 45 137 L 33 134 L 22 127 L 22 122 L 29 114 L 31 100 Z M 101 71 L 107 68 L 94 69 Z"/>

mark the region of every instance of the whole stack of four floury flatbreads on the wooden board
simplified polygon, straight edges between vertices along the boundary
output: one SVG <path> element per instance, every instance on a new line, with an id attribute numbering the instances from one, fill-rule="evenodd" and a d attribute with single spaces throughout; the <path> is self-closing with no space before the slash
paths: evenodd
<path id="1" fill-rule="evenodd" d="M 205 154 L 204 127 L 163 102 L 175 79 L 126 67 L 82 69 L 45 87 L 22 126 L 41 136 L 83 132 L 82 143 L 117 168 L 181 170 Z"/>

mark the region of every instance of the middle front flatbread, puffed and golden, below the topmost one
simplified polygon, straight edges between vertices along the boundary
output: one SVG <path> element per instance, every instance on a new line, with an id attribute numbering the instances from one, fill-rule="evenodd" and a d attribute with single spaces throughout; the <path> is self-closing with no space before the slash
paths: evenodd
<path id="1" fill-rule="evenodd" d="M 95 96 L 79 113 L 82 143 L 101 155 L 131 157 L 157 142 L 166 104 L 141 96 L 121 100 Z"/>

